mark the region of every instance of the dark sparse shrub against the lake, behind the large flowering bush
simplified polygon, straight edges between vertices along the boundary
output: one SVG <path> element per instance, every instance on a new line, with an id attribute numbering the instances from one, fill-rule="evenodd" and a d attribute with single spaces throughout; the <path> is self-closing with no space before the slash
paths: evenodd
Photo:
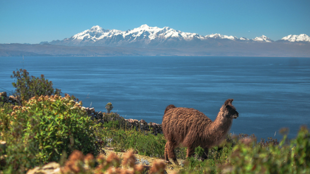
<path id="1" fill-rule="evenodd" d="M 29 72 L 25 69 L 13 71 L 11 78 L 15 78 L 16 82 L 12 85 L 16 88 L 16 94 L 20 95 L 22 101 L 29 100 L 34 96 L 41 95 L 60 95 L 60 89 L 54 89 L 53 83 L 44 78 L 42 74 L 40 78 L 29 76 Z"/>

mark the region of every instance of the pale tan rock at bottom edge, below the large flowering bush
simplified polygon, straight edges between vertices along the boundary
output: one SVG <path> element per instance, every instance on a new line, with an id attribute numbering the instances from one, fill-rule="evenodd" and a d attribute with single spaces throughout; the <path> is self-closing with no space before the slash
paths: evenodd
<path id="1" fill-rule="evenodd" d="M 42 167 L 34 167 L 30 169 L 27 174 L 60 174 L 60 164 L 56 162 L 50 162 Z"/>

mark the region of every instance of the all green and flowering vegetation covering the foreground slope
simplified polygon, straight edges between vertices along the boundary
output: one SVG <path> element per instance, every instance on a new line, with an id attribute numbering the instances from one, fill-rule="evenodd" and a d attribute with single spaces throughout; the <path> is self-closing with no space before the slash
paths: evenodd
<path id="1" fill-rule="evenodd" d="M 141 173 L 144 169 L 132 162 L 134 154 L 163 159 L 166 140 L 162 134 L 126 128 L 123 119 L 97 124 L 82 109 L 82 102 L 58 95 L 60 90 L 53 89 L 44 76 L 29 77 L 25 70 L 13 74 L 18 78 L 16 92 L 24 97 L 20 106 L 0 98 L 0 173 L 24 173 L 51 161 L 60 163 L 64 173 Z M 105 117 L 122 118 L 110 112 L 112 103 L 107 106 Z M 201 147 L 188 159 L 186 148 L 180 147 L 177 159 L 185 162 L 179 173 L 310 173 L 309 130 L 301 127 L 292 140 L 287 139 L 286 129 L 281 132 L 280 143 L 272 138 L 258 142 L 254 135 L 229 134 L 219 147 L 210 149 L 205 161 L 200 160 Z M 123 159 L 116 154 L 104 158 L 100 154 L 104 147 L 132 151 Z M 154 163 L 154 173 L 163 172 L 164 167 Z"/>

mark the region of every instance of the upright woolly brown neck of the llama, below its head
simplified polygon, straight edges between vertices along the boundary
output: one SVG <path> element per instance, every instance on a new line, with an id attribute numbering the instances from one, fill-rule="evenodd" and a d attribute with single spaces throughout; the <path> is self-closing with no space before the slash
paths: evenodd
<path id="1" fill-rule="evenodd" d="M 225 138 L 231 125 L 232 119 L 224 116 L 224 112 L 221 110 L 219 111 L 214 122 L 206 127 L 205 138 L 214 141 L 212 144 L 217 144 Z"/>

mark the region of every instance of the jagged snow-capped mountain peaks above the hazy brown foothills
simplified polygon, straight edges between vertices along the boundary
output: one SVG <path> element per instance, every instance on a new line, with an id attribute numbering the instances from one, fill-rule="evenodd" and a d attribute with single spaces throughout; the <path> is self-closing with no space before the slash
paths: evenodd
<path id="1" fill-rule="evenodd" d="M 70 38 L 60 41 L 41 42 L 54 45 L 67 46 L 130 46 L 130 47 L 171 47 L 184 45 L 187 42 L 210 42 L 210 39 L 217 41 L 238 41 L 238 42 L 275 42 L 262 35 L 254 39 L 245 37 L 237 38 L 221 34 L 210 34 L 206 36 L 197 33 L 186 33 L 170 27 L 158 28 L 149 27 L 144 24 L 132 30 L 121 31 L 116 29 L 103 29 L 100 26 L 93 26 L 89 30 L 75 34 Z M 310 42 L 310 37 L 306 34 L 289 35 L 276 42 Z"/>

